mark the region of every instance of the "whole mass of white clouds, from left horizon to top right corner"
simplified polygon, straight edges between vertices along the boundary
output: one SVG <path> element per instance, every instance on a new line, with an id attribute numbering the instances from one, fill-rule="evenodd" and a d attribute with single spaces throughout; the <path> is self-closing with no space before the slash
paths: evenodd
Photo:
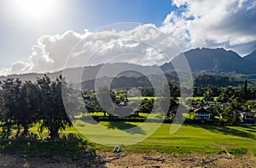
<path id="1" fill-rule="evenodd" d="M 113 26 L 97 32 L 43 36 L 32 47 L 27 62 L 16 61 L 0 73 L 53 72 L 113 61 L 113 55 L 125 53 L 138 55 L 119 60 L 159 65 L 168 61 L 161 53 L 172 58 L 181 50 L 196 47 L 224 47 L 241 55 L 256 49 L 255 1 L 173 0 L 172 7 L 176 9 L 166 15 L 160 27 L 145 24 L 126 30 Z"/>

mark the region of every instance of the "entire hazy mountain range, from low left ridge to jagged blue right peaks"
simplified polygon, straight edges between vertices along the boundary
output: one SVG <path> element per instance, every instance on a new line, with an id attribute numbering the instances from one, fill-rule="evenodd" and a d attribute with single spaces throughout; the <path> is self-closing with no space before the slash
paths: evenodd
<path id="1" fill-rule="evenodd" d="M 230 73 L 239 73 L 239 74 L 256 74 L 256 50 L 253 51 L 250 55 L 246 55 L 241 57 L 236 54 L 236 52 L 225 49 L 190 49 L 183 53 L 189 63 L 191 68 L 191 72 L 214 72 L 218 74 L 230 74 Z M 114 77 L 121 69 L 127 69 L 131 71 L 124 72 L 119 74 L 119 78 L 121 76 L 125 76 L 127 80 L 131 81 L 131 79 L 135 80 L 136 78 L 142 78 L 148 75 L 154 75 L 154 78 L 157 79 L 155 74 L 159 72 L 159 70 L 166 73 L 166 77 L 170 80 L 177 80 L 175 73 L 173 73 L 174 68 L 172 63 L 178 63 L 182 61 L 181 55 L 177 55 L 172 62 L 166 62 L 164 65 L 159 67 L 157 66 L 139 66 L 135 64 L 129 63 L 113 63 L 113 64 L 105 64 L 98 65 L 94 67 L 74 67 L 65 69 L 65 75 L 68 77 L 69 82 L 80 83 L 81 80 L 90 81 L 90 85 L 93 84 L 92 81 L 96 78 L 97 73 L 104 67 L 104 72 L 102 74 L 98 74 L 97 78 L 102 78 L 102 81 L 108 81 Z M 59 72 L 46 72 L 49 78 L 55 78 L 56 76 L 62 74 L 63 71 Z M 137 73 L 141 72 L 141 73 Z M 9 75 L 9 76 L 1 76 L 0 80 L 4 80 L 6 78 L 20 78 L 21 80 L 31 80 L 35 81 L 37 77 L 43 76 L 43 73 L 26 73 L 26 74 L 17 74 L 17 75 Z M 82 78 L 81 78 L 82 76 Z M 124 81 L 124 78 L 120 79 L 120 81 Z M 117 81 L 115 81 L 118 84 Z M 148 81 L 146 82 L 148 84 Z"/>

